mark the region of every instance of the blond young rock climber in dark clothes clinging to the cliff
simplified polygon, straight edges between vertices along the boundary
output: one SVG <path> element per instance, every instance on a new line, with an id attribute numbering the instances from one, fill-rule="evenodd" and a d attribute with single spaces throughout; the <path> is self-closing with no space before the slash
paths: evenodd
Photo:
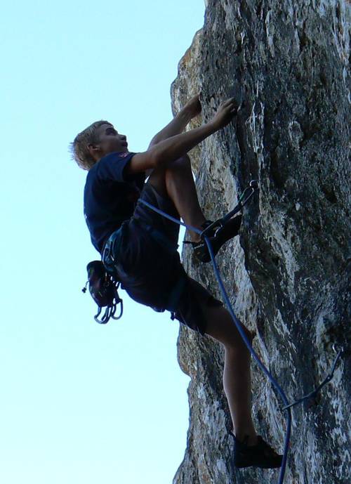
<path id="1" fill-rule="evenodd" d="M 199 206 L 187 152 L 230 124 L 237 103 L 234 98 L 225 100 L 209 122 L 183 132 L 200 112 L 199 96 L 194 96 L 152 138 L 145 152 L 129 151 L 126 136 L 107 121 L 81 131 L 71 150 L 77 164 L 88 171 L 84 216 L 107 271 L 132 299 L 154 310 L 170 310 L 183 325 L 223 344 L 234 466 L 276 468 L 282 456 L 258 436 L 253 424 L 249 350 L 223 303 L 185 272 L 177 251 L 179 225 L 140 203 L 145 200 L 199 230 L 211 224 Z M 223 230 L 207 234 L 215 254 L 239 233 L 240 225 L 241 216 L 236 216 Z M 190 230 L 190 239 L 194 256 L 210 261 L 199 234 Z M 244 330 L 252 340 L 253 334 Z"/>

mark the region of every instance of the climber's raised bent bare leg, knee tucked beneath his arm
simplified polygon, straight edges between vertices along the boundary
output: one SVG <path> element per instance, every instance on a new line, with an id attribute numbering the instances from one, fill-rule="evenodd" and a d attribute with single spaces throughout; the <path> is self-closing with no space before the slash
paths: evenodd
<path id="1" fill-rule="evenodd" d="M 152 171 L 149 183 L 160 195 L 171 198 L 185 223 L 201 230 L 201 224 L 206 221 L 206 218 L 199 206 L 190 159 L 187 155 L 166 164 L 161 169 Z M 199 235 L 192 231 L 190 231 L 190 238 L 193 242 L 200 240 Z"/>

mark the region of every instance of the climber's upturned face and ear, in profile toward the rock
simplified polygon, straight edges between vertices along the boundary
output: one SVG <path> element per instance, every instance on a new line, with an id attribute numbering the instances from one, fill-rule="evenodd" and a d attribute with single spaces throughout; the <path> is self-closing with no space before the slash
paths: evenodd
<path id="1" fill-rule="evenodd" d="M 128 152 L 127 138 L 119 134 L 112 124 L 102 124 L 96 132 L 98 143 L 91 143 L 88 149 L 95 159 L 112 152 Z"/>

